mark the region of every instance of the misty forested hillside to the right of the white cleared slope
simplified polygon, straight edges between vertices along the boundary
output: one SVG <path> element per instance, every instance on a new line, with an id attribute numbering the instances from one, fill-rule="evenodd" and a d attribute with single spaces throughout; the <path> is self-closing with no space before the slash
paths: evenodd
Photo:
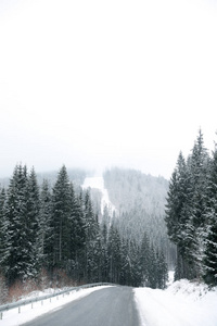
<path id="1" fill-rule="evenodd" d="M 104 172 L 104 187 L 117 210 L 115 223 L 123 237 L 142 242 L 145 235 L 156 250 L 174 266 L 175 251 L 168 240 L 165 203 L 168 180 L 136 170 L 114 167 Z"/>

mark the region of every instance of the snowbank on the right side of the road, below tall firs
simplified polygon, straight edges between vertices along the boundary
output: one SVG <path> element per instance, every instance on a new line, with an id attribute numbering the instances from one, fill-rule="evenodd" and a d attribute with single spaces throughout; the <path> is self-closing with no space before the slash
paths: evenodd
<path id="1" fill-rule="evenodd" d="M 166 290 L 135 289 L 142 326 L 217 326 L 217 288 L 187 279 Z"/>

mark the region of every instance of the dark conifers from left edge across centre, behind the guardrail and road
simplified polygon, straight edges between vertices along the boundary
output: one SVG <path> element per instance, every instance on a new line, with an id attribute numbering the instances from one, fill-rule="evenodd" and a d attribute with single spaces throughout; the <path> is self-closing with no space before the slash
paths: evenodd
<path id="1" fill-rule="evenodd" d="M 64 165 L 52 187 L 47 179 L 39 187 L 34 168 L 28 173 L 16 165 L 7 189 L 0 189 L 0 274 L 7 286 L 40 281 L 46 271 L 56 281 L 64 272 L 76 283 L 164 288 L 165 259 L 148 236 L 140 246 L 122 237 L 111 220 L 103 221 L 90 192 L 75 191 Z"/>

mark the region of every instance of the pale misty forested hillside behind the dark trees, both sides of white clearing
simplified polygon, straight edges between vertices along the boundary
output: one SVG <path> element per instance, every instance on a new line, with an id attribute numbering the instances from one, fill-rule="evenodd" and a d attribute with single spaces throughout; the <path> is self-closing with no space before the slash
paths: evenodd
<path id="1" fill-rule="evenodd" d="M 93 173 L 81 168 L 67 171 L 69 180 L 73 181 L 76 192 L 80 191 L 86 177 Z M 56 180 L 58 172 L 37 173 L 38 184 L 47 179 L 52 188 Z M 144 233 L 149 235 L 150 242 L 164 251 L 167 261 L 173 265 L 174 249 L 168 241 L 165 225 L 165 203 L 168 191 L 168 180 L 164 177 L 154 177 L 130 168 L 114 167 L 103 174 L 104 188 L 108 192 L 112 204 L 116 208 L 116 218 L 113 221 L 125 238 L 137 239 L 141 243 Z M 0 179 L 1 186 L 8 186 L 10 178 Z M 111 223 L 112 214 L 101 213 L 101 189 L 90 190 L 92 205 L 98 214 L 99 222 Z"/>

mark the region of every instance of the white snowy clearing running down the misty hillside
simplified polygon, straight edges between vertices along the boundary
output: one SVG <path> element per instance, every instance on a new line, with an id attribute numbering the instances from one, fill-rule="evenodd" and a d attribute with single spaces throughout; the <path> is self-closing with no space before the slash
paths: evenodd
<path id="1" fill-rule="evenodd" d="M 98 176 L 98 177 L 87 177 L 82 184 L 82 188 L 87 189 L 87 188 L 94 188 L 94 189 L 99 189 L 102 192 L 102 199 L 101 199 L 101 214 L 103 214 L 104 211 L 104 206 L 107 205 L 108 211 L 111 213 L 111 215 L 113 214 L 113 212 L 116 212 L 115 206 L 113 205 L 113 203 L 110 201 L 108 198 L 108 193 L 107 193 L 107 189 L 104 188 L 104 180 L 102 176 Z"/>

